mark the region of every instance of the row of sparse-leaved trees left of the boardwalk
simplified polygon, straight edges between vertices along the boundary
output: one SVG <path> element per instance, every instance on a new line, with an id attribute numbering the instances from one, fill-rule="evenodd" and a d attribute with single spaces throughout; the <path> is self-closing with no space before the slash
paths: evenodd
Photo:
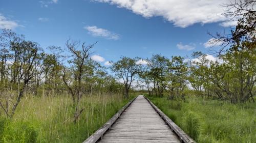
<path id="1" fill-rule="evenodd" d="M 3 30 L 0 41 L 0 105 L 10 118 L 25 94 L 67 93 L 76 106 L 76 122 L 83 110 L 79 105 L 83 95 L 92 95 L 93 91 L 114 93 L 122 89 L 121 83 L 108 74 L 106 67 L 90 58 L 96 43 L 86 45 L 67 40 L 66 53 L 57 46 L 47 47 L 49 52 L 46 52 L 37 42 L 27 41 L 11 30 Z M 8 92 L 12 94 L 5 95 Z"/>

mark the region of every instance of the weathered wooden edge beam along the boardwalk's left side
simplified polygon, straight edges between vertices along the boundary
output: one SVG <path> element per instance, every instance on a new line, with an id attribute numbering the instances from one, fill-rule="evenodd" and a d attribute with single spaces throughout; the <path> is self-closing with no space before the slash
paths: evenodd
<path id="1" fill-rule="evenodd" d="M 136 96 L 134 99 L 132 99 L 130 102 L 128 102 L 125 106 L 123 106 L 108 122 L 106 122 L 101 128 L 99 128 L 97 131 L 95 131 L 90 137 L 88 137 L 86 140 L 84 140 L 82 143 L 95 143 L 97 142 L 103 134 L 108 131 L 111 126 L 116 122 L 116 120 L 120 117 L 120 115 L 123 113 L 123 111 L 131 105 L 131 103 L 137 98 Z"/>

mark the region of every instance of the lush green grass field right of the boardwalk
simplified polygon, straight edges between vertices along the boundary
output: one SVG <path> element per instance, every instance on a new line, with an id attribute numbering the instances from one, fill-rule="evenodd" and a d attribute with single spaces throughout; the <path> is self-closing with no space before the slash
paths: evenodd
<path id="1" fill-rule="evenodd" d="M 186 97 L 185 102 L 167 97 L 148 97 L 197 142 L 256 142 L 256 103 Z"/>

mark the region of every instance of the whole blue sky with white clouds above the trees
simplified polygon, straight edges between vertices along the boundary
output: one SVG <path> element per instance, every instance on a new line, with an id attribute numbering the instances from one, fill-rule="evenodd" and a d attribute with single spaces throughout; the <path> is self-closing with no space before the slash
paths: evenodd
<path id="1" fill-rule="evenodd" d="M 228 2 L 228 1 L 227 1 Z M 120 56 L 190 55 L 208 51 L 207 31 L 226 32 L 235 21 L 221 15 L 215 0 L 0 0 L 0 28 L 11 28 L 42 48 L 65 48 L 71 38 L 99 41 L 95 60 Z M 100 58 L 101 57 L 101 58 Z M 103 58 L 103 59 L 102 59 Z"/>

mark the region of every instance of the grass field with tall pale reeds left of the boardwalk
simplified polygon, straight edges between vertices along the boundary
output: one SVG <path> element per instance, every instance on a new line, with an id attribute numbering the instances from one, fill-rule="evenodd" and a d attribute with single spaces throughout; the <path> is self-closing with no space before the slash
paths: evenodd
<path id="1" fill-rule="evenodd" d="M 84 96 L 81 106 L 85 109 L 74 124 L 75 108 L 70 96 L 26 96 L 12 121 L 1 109 L 0 142 L 82 142 L 130 99 L 118 94 Z"/>

